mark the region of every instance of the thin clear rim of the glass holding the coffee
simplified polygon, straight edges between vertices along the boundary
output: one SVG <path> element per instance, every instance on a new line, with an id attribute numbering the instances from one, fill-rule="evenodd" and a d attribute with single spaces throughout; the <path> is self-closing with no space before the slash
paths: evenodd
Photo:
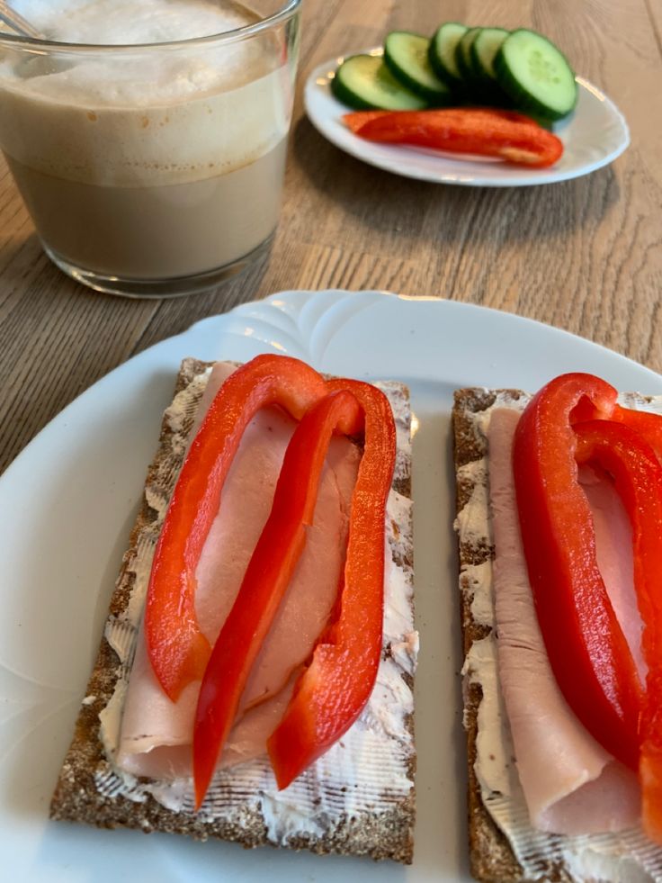
<path id="1" fill-rule="evenodd" d="M 192 46 L 206 46 L 210 43 L 236 43 L 246 40 L 255 34 L 268 31 L 274 25 L 288 21 L 298 10 L 301 0 L 286 0 L 275 13 L 267 15 L 259 22 L 242 25 L 231 31 L 221 31 L 216 34 L 206 34 L 203 37 L 188 37 L 185 40 L 167 40 L 158 43 L 68 43 L 58 40 L 41 40 L 36 37 L 26 37 L 22 34 L 0 32 L 0 46 L 8 46 L 12 49 L 25 48 L 30 50 L 60 51 L 60 52 L 117 52 L 129 53 L 131 51 L 145 51 L 157 49 L 184 49 Z"/>

